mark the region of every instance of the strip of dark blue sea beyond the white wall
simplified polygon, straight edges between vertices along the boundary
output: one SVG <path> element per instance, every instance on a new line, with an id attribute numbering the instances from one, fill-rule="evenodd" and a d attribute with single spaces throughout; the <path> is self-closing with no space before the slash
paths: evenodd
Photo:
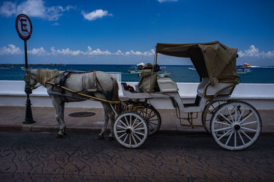
<path id="1" fill-rule="evenodd" d="M 0 65 L 0 80 L 23 80 L 25 71 L 21 67 L 24 64 L 5 64 Z M 123 74 L 128 73 L 129 68 L 134 65 L 122 64 L 31 64 L 28 68 L 50 68 L 57 70 L 101 70 L 103 72 L 122 73 L 122 81 L 139 81 L 138 75 Z M 166 72 L 171 72 L 171 79 L 175 82 L 198 83 L 199 75 L 196 70 L 189 70 L 188 65 L 160 65 L 166 66 Z M 241 74 L 240 83 L 274 83 L 274 67 L 272 66 L 254 66 L 251 67 L 251 73 Z"/>

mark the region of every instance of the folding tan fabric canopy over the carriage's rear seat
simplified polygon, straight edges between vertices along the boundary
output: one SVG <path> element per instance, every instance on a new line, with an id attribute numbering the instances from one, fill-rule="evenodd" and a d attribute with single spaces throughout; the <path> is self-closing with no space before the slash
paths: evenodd
<path id="1" fill-rule="evenodd" d="M 210 77 L 215 85 L 219 80 L 236 79 L 237 49 L 219 41 L 193 44 L 156 44 L 156 54 L 190 57 L 199 77 Z"/>

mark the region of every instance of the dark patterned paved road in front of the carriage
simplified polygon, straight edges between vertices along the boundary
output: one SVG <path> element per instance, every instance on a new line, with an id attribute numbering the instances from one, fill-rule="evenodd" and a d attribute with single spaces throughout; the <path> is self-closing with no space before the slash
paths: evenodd
<path id="1" fill-rule="evenodd" d="M 0 132 L 0 181 L 273 180 L 274 136 L 224 151 L 209 135 L 159 133 L 138 149 L 97 134 Z"/>

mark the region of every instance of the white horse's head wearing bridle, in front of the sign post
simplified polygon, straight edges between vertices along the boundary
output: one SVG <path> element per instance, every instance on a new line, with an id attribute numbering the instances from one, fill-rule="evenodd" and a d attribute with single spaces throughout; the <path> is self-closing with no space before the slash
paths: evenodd
<path id="1" fill-rule="evenodd" d="M 27 69 L 23 67 L 22 69 L 26 72 L 26 75 L 24 75 L 25 92 L 31 94 L 38 83 L 38 81 L 36 81 L 37 69 Z"/>

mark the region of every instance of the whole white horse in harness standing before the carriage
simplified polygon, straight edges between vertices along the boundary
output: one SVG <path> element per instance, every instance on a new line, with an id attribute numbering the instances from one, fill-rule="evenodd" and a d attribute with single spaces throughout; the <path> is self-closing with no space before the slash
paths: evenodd
<path id="1" fill-rule="evenodd" d="M 85 101 L 84 97 L 73 94 L 72 92 L 63 90 L 58 86 L 53 86 L 46 83 L 63 82 L 63 86 L 83 94 L 95 96 L 99 99 L 107 99 L 109 101 L 118 101 L 118 83 L 114 77 L 101 71 L 92 71 L 86 73 L 69 74 L 66 71 L 50 70 L 50 69 L 26 69 L 23 68 L 27 75 L 30 75 L 29 83 L 26 83 L 26 88 L 35 89 L 37 83 L 47 88 L 49 97 L 52 100 L 55 109 L 55 117 L 59 124 L 58 137 L 66 135 L 66 123 L 64 122 L 64 103 Z M 31 91 L 30 91 L 31 92 Z M 115 114 L 110 103 L 101 101 L 105 112 L 105 123 L 99 133 L 98 139 L 103 139 L 103 133 L 108 126 L 110 119 L 110 135 L 108 140 L 113 140 L 113 125 Z"/>

